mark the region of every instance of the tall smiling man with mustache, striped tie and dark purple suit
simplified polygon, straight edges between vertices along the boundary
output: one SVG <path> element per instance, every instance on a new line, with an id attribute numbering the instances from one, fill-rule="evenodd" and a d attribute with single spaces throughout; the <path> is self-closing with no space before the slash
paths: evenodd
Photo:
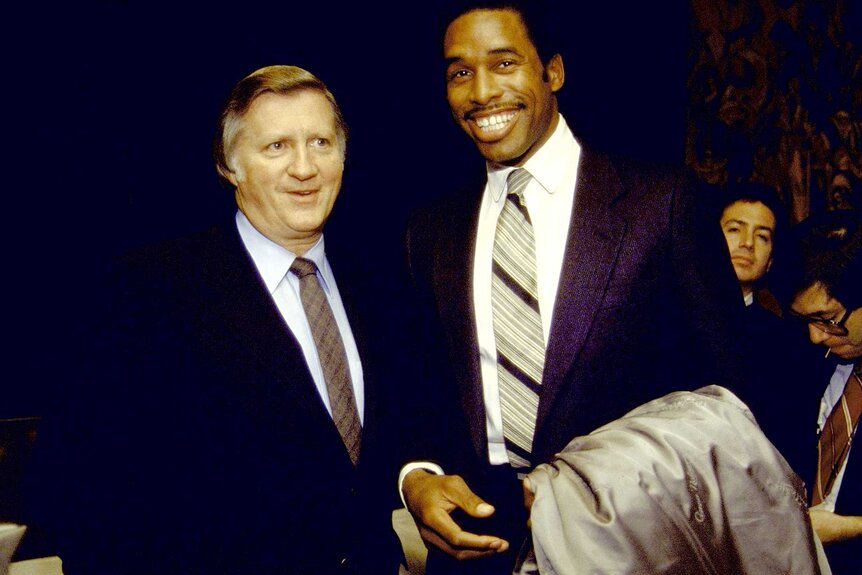
<path id="1" fill-rule="evenodd" d="M 428 385 L 400 483 L 429 573 L 511 572 L 527 535 L 519 475 L 572 437 L 670 390 L 746 381 L 717 223 L 679 171 L 574 137 L 557 104 L 563 58 L 536 8 L 471 5 L 447 20 L 448 101 L 485 181 L 407 230 Z M 510 180 L 517 168 L 528 177 Z M 517 223 L 500 230 L 501 214 Z M 532 236 L 516 250 L 535 256 L 498 258 L 512 236 Z"/>

